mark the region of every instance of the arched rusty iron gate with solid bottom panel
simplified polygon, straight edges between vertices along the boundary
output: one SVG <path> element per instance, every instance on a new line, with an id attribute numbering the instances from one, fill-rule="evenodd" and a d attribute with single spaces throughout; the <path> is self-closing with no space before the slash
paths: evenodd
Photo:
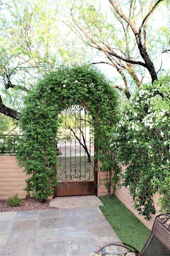
<path id="1" fill-rule="evenodd" d="M 59 118 L 56 175 L 60 183 L 56 186 L 55 197 L 97 195 L 95 143 L 90 112 L 76 105 L 63 111 Z"/>

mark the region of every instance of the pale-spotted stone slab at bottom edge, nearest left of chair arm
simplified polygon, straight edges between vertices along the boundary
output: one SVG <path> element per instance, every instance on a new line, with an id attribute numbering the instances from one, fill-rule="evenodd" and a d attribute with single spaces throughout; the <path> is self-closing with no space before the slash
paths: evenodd
<path id="1" fill-rule="evenodd" d="M 68 256 L 84 256 L 96 250 L 91 238 L 66 240 L 65 245 Z"/>

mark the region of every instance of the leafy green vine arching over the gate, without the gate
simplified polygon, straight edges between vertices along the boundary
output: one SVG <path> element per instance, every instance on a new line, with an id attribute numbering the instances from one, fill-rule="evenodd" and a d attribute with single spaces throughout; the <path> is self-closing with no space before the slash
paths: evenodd
<path id="1" fill-rule="evenodd" d="M 17 152 L 19 164 L 27 175 L 26 191 L 34 188 L 41 201 L 53 193 L 57 184 L 55 136 L 59 114 L 72 105 L 85 106 L 93 120 L 96 156 L 108 152 L 111 128 L 116 121 L 117 92 L 104 76 L 89 66 L 60 66 L 39 81 L 25 100 L 21 117 L 24 143 Z"/>

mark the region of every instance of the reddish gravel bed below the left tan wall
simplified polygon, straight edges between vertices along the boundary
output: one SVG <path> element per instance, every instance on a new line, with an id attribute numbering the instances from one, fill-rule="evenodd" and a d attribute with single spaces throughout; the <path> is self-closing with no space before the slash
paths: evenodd
<path id="1" fill-rule="evenodd" d="M 56 207 L 50 207 L 50 200 L 45 203 L 40 203 L 37 200 L 33 200 L 31 197 L 23 199 L 24 202 L 12 207 L 8 204 L 8 200 L 0 200 L 0 212 L 14 212 L 19 210 L 45 210 L 45 209 L 57 209 Z"/>

